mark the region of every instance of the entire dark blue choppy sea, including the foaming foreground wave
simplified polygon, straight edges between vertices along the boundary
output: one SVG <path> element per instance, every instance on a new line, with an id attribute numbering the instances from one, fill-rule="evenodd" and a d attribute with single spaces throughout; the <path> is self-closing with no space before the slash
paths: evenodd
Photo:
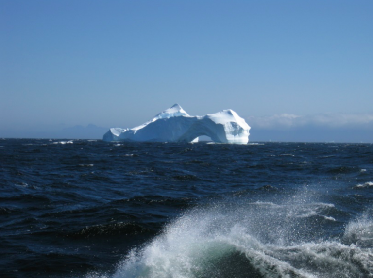
<path id="1" fill-rule="evenodd" d="M 373 145 L 0 140 L 1 278 L 371 278 Z"/>

